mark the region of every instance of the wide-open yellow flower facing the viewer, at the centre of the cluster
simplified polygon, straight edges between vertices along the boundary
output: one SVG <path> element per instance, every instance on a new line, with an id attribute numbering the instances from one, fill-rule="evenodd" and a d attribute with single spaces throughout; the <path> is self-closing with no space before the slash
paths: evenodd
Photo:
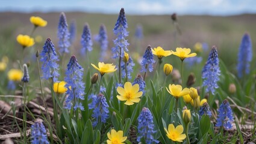
<path id="1" fill-rule="evenodd" d="M 131 85 L 130 82 L 126 82 L 124 88 L 118 86 L 117 92 L 120 95 L 117 95 L 117 99 L 120 101 L 126 101 L 125 104 L 130 106 L 134 103 L 139 103 L 140 97 L 142 97 L 143 92 L 139 91 L 139 84 Z"/>

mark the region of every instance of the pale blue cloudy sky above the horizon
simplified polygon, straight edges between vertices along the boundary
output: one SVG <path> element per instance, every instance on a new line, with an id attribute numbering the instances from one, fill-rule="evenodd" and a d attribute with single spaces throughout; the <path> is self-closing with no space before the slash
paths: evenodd
<path id="1" fill-rule="evenodd" d="M 84 11 L 90 13 L 231 16 L 255 14 L 256 0 L 0 0 L 0 12 Z"/>

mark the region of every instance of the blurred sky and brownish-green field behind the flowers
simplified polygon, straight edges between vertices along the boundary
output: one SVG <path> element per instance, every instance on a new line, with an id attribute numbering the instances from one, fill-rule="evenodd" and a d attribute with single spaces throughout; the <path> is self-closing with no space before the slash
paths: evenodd
<path id="1" fill-rule="evenodd" d="M 48 21 L 45 28 L 37 28 L 34 32 L 36 45 L 32 51 L 41 50 L 48 37 L 58 49 L 57 27 L 61 12 L 66 14 L 68 23 L 76 21 L 76 39 L 70 48 L 72 54 L 78 55 L 80 52 L 80 39 L 86 22 L 89 23 L 92 35 L 98 34 L 101 23 L 105 24 L 110 50 L 113 47 L 112 40 L 116 38 L 113 34 L 114 24 L 122 7 L 125 8 L 130 32 L 127 37 L 130 43 L 128 49 L 139 55 L 143 55 L 148 44 L 167 50 L 189 47 L 193 51 L 196 43 L 208 48 L 216 45 L 220 59 L 231 72 L 236 73 L 237 52 L 245 32 L 251 35 L 255 52 L 256 1 L 253 0 L 12 0 L 2 1 L 0 5 L 0 57 L 7 55 L 10 59 L 19 58 L 22 48 L 16 42 L 16 37 L 18 34 L 30 35 L 33 29 L 31 16 L 40 16 Z M 175 19 L 171 17 L 173 13 L 176 13 Z M 138 25 L 143 29 L 143 37 L 140 39 L 134 36 Z M 99 50 L 98 44 L 93 43 L 93 48 Z M 205 58 L 209 50 L 205 52 Z"/>

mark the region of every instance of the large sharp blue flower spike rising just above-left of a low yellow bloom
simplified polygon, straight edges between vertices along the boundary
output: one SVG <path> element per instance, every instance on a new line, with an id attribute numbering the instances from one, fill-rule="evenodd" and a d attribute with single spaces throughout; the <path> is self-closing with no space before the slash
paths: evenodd
<path id="1" fill-rule="evenodd" d="M 58 73 L 58 56 L 55 52 L 54 44 L 52 43 L 50 38 L 47 38 L 45 41 L 45 45 L 43 46 L 43 50 L 40 53 L 40 61 L 43 62 L 42 64 L 42 71 L 43 71 L 43 79 L 48 80 L 49 78 L 53 78 L 54 82 L 57 81 L 57 77 L 60 76 Z"/>

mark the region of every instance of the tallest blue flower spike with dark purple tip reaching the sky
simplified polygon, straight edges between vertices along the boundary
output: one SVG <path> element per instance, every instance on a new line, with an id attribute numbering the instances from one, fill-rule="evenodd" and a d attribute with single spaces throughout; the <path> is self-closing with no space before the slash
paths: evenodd
<path id="1" fill-rule="evenodd" d="M 128 52 L 127 46 L 129 43 L 127 40 L 125 40 L 125 37 L 128 36 L 129 32 L 126 30 L 126 28 L 128 28 L 128 25 L 125 17 L 125 10 L 121 8 L 116 25 L 114 25 L 113 29 L 114 35 L 116 35 L 117 38 L 116 40 L 113 40 L 115 47 L 111 49 L 113 53 L 112 58 L 117 58 L 119 55 L 121 58 L 123 58 L 123 50 Z"/>

